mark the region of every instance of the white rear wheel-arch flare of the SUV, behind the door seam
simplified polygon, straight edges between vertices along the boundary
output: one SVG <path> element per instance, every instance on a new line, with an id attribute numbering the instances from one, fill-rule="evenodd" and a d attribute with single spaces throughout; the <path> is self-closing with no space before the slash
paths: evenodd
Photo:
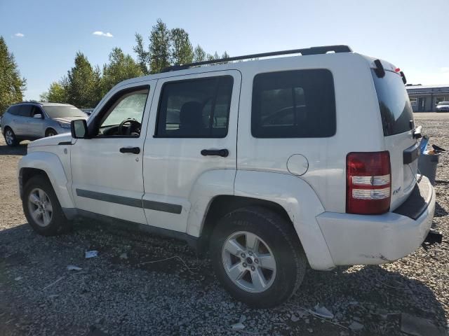
<path id="1" fill-rule="evenodd" d="M 238 170 L 234 195 L 281 205 L 290 216 L 311 268 L 325 270 L 335 267 L 316 221 L 316 216 L 322 214 L 324 208 L 307 182 L 289 174 Z"/>

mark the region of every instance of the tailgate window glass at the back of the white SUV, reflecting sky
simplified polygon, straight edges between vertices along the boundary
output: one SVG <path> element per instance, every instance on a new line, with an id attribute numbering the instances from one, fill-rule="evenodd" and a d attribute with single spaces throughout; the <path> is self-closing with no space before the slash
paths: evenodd
<path id="1" fill-rule="evenodd" d="M 385 71 L 385 76 L 379 78 L 374 70 L 371 72 L 379 101 L 384 136 L 410 131 L 413 124 L 410 123 L 410 120 L 413 120 L 413 110 L 401 76 Z"/>

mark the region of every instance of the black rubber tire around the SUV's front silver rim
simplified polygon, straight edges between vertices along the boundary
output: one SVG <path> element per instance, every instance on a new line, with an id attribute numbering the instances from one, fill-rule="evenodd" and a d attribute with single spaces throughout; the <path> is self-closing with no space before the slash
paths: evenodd
<path id="1" fill-rule="evenodd" d="M 51 202 L 51 206 L 53 207 L 53 213 L 51 214 L 51 221 L 46 226 L 39 225 L 33 218 L 31 214 L 31 209 L 29 209 L 29 196 L 33 190 L 39 188 L 43 190 L 48 199 Z M 25 217 L 29 225 L 39 233 L 39 235 L 43 236 L 54 236 L 60 235 L 69 231 L 72 228 L 71 223 L 67 220 L 64 213 L 62 212 L 61 205 L 58 201 L 58 197 L 51 186 L 50 181 L 44 175 L 36 175 L 27 181 L 25 184 L 25 188 L 23 188 L 23 196 L 22 196 L 22 207 Z"/>

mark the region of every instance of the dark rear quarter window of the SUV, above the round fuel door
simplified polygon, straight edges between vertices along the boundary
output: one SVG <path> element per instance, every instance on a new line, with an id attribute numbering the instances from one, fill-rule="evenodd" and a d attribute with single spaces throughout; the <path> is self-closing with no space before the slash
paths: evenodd
<path id="1" fill-rule="evenodd" d="M 255 76 L 251 111 L 253 137 L 332 137 L 335 123 L 335 92 L 329 70 L 282 71 Z"/>

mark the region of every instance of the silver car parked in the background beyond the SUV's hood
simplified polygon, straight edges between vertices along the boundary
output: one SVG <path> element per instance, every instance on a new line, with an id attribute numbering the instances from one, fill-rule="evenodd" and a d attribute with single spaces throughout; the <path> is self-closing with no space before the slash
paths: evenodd
<path id="1" fill-rule="evenodd" d="M 87 119 L 86 113 L 69 104 L 19 103 L 8 107 L 1 117 L 6 144 L 70 132 L 70 121 Z"/>

